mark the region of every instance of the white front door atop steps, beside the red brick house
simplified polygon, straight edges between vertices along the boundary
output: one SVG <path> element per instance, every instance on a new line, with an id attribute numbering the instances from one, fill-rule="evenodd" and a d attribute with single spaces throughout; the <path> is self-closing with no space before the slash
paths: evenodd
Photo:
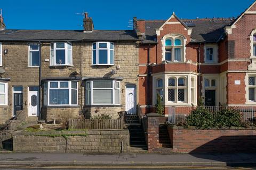
<path id="1" fill-rule="evenodd" d="M 126 112 L 127 114 L 136 114 L 137 101 L 136 101 L 136 86 L 127 85 L 125 90 L 126 96 Z"/>

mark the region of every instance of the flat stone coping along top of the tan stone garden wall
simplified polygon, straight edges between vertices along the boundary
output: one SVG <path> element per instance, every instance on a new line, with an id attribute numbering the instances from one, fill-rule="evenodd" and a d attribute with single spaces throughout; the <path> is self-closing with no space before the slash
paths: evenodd
<path id="1" fill-rule="evenodd" d="M 65 135 L 65 134 L 88 134 L 88 135 L 115 135 L 115 134 L 129 134 L 129 130 L 77 130 L 77 131 L 37 131 L 37 132 L 27 132 L 27 131 L 14 131 L 13 135 Z"/>

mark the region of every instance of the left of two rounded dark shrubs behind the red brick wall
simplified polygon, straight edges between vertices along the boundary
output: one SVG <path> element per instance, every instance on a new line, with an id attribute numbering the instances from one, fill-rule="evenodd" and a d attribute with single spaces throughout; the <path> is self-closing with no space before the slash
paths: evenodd
<path id="1" fill-rule="evenodd" d="M 196 126 L 197 129 L 210 129 L 214 126 L 214 117 L 208 109 L 197 107 L 186 117 L 184 125 Z"/>

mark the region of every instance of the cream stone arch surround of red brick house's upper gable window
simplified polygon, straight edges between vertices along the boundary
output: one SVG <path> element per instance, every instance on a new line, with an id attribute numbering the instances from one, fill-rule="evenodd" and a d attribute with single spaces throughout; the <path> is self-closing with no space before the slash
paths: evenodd
<path id="1" fill-rule="evenodd" d="M 161 39 L 161 43 L 162 43 L 162 61 L 165 61 L 165 40 L 168 38 L 172 38 L 173 39 L 173 43 L 174 43 L 174 38 L 175 37 L 180 37 L 183 41 L 183 48 L 182 48 L 182 62 L 186 62 L 186 43 L 187 43 L 187 38 L 185 36 L 183 36 L 180 33 L 169 33 L 167 35 L 164 35 Z"/>

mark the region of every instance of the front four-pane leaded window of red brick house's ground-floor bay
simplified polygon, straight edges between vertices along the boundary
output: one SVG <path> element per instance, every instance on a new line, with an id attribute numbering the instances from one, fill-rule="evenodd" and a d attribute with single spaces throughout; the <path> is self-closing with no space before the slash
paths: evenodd
<path id="1" fill-rule="evenodd" d="M 185 77 L 168 79 L 168 101 L 186 102 L 187 79 Z"/>

